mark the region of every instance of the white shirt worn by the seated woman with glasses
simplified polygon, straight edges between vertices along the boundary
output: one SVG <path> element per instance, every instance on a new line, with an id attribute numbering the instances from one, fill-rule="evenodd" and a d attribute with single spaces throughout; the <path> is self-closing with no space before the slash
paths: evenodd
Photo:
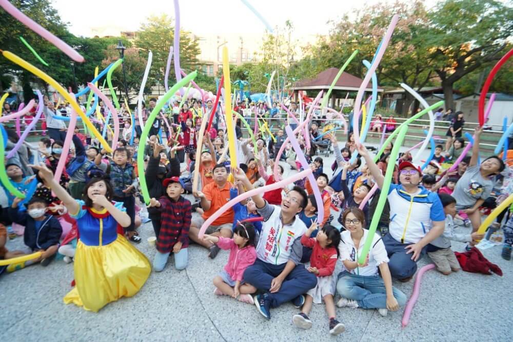
<path id="1" fill-rule="evenodd" d="M 360 240 L 360 245 L 354 246 L 354 242 L 351 239 L 351 232 L 349 230 L 344 230 L 342 232 L 339 243 L 339 254 L 342 265 L 344 265 L 345 260 L 358 260 L 358 258 L 361 255 L 360 252 L 363 249 L 363 245 L 365 245 L 365 241 L 367 240 L 368 234 L 369 231 L 367 229 L 364 229 L 362 240 Z M 388 261 L 388 255 L 383 240 L 381 239 L 379 234 L 374 234 L 369 249 L 368 265 L 365 267 L 357 267 L 353 270 L 348 270 L 345 267 L 344 269 L 346 269 L 346 271 L 352 274 L 372 276 L 378 274 L 378 266 L 381 265 L 381 263 L 388 263 Z"/>

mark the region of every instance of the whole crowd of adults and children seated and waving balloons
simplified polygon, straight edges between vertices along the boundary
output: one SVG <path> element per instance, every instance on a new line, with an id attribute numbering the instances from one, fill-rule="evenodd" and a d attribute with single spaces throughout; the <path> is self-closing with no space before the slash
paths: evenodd
<path id="1" fill-rule="evenodd" d="M 142 113 L 134 110 L 134 117 L 141 115 L 145 123 L 156 102 L 150 98 Z M 173 99 L 153 123 L 144 152 L 137 151 L 142 127 L 122 103 L 122 133 L 112 154 L 90 132 L 78 128 L 70 152 L 63 153 L 67 133 L 63 118 L 71 110 L 66 103 L 56 106 L 48 98 L 43 105 L 42 135 L 46 137 L 40 139 L 38 149 L 25 142 L 5 161 L 10 185 L 25 194 L 33 182 L 37 187 L 26 199 L 15 197 L 5 184 L 0 188 L 0 258 L 41 252 L 35 259 L 10 264 L 8 273 L 36 263 L 47 266 L 63 255 L 65 263 L 74 263 L 74 288 L 64 301 L 90 311 L 137 293 L 151 268 L 163 271 L 171 255 L 176 270 L 185 269 L 188 247 L 195 243 L 205 247 L 211 259 L 229 250 L 226 266 L 212 280 L 215 295 L 254 304 L 267 319 L 271 319 L 271 309 L 292 302 L 299 310 L 292 321 L 302 329 L 312 326 L 308 317 L 312 304 L 324 303 L 329 332 L 340 334 L 345 328 L 337 320 L 336 305 L 377 309 L 383 316 L 397 311 L 407 297 L 392 286 L 392 279 L 409 281 L 426 253 L 443 274 L 460 270 L 451 241 L 466 242 L 466 249 L 471 250 L 484 238 L 477 233 L 484 210 L 513 193 L 513 175 L 500 156 L 479 161 L 481 127 L 475 130 L 471 154 L 452 172 L 444 171 L 465 145 L 461 112 L 450 118 L 445 146 L 437 145 L 432 160 L 421 169 L 412 163 L 410 153 L 391 159 L 392 143 L 376 163 L 352 133 L 345 141 L 334 133 L 325 134 L 338 119 L 321 111 L 314 113 L 305 132 L 310 148 L 300 132 L 297 139 L 302 151 L 295 151 L 286 143 L 284 120 L 274 127 L 266 121 L 283 115 L 277 103 L 271 108 L 265 103 L 235 104 L 234 111 L 248 122 L 252 118 L 258 132 L 254 139 L 245 138 L 241 119 L 235 117 L 236 151 L 228 149 L 221 106 L 213 109 L 212 101 L 192 100 L 180 107 L 180 101 Z M 101 120 L 109 110 L 102 101 L 98 107 L 100 115 L 94 124 L 111 143 L 112 125 Z M 10 108 L 6 104 L 3 110 L 8 114 Z M 291 103 L 290 111 L 299 117 L 301 109 Z M 260 125 L 254 121 L 255 114 Z M 200 126 L 209 115 L 214 115 L 212 127 L 200 137 Z M 370 130 L 381 136 L 383 130 L 391 132 L 398 125 L 393 116 L 384 121 L 376 115 Z M 18 136 L 13 128 L 5 130 L 5 151 L 9 152 Z M 322 140 L 315 139 L 321 135 Z M 198 156 L 199 142 L 204 148 Z M 324 165 L 318 153 L 325 145 L 331 146 L 336 157 L 330 166 Z M 278 156 L 282 147 L 284 153 Z M 138 153 L 144 153 L 144 170 L 135 162 Z M 222 212 L 201 234 L 208 218 L 231 199 L 301 171 L 298 153 L 306 157 L 315 184 L 302 179 L 253 195 Z M 232 156 L 238 161 L 236 168 L 230 168 Z M 62 159 L 65 167 L 56 179 Z M 194 173 L 196 163 L 198 174 Z M 361 263 L 367 229 L 390 163 L 394 166 L 387 203 Z M 146 180 L 149 203 L 141 196 L 140 177 Z M 193 187 L 195 180 L 197 188 Z M 363 203 L 374 185 L 378 191 Z M 314 187 L 321 194 L 322 208 Z M 318 221 L 320 209 L 322 222 Z M 137 229 L 149 221 L 156 238 L 152 262 L 133 245 L 141 242 Z M 502 258 L 510 260 L 513 215 L 509 210 L 501 213 L 492 228 L 501 225 Z M 21 235 L 26 248 L 8 250 L 7 238 Z M 335 274 L 338 263 L 342 271 Z"/>

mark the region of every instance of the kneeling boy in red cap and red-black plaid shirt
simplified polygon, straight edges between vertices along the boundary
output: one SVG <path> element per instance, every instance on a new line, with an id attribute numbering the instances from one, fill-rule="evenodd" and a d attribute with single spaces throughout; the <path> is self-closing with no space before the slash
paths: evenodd
<path id="1" fill-rule="evenodd" d="M 153 269 L 164 270 L 169 254 L 174 254 L 174 267 L 183 270 L 187 267 L 189 247 L 189 229 L 192 218 L 191 202 L 185 199 L 183 181 L 178 177 L 165 179 L 163 182 L 166 195 L 159 200 L 152 198 L 148 207 L 161 211 L 161 227 L 157 236 Z"/>

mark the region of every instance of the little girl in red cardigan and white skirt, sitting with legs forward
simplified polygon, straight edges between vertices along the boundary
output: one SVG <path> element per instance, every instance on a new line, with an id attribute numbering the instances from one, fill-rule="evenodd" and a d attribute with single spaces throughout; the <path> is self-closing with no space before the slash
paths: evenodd
<path id="1" fill-rule="evenodd" d="M 313 222 L 301 237 L 301 243 L 303 246 L 313 249 L 308 272 L 317 275 L 317 286 L 306 293 L 305 304 L 303 304 L 301 312 L 292 317 L 292 322 L 298 328 L 310 329 L 312 321 L 308 318 L 308 313 L 312 308 L 312 303 L 321 304 L 324 300 L 329 317 L 329 333 L 338 335 L 345 330 L 344 325 L 336 319 L 333 302 L 336 285 L 333 271 L 339 258 L 337 248 L 340 243 L 340 232 L 331 225 L 325 225 L 319 230 L 317 237 L 310 238 L 315 229 L 317 229 L 317 222 Z"/>

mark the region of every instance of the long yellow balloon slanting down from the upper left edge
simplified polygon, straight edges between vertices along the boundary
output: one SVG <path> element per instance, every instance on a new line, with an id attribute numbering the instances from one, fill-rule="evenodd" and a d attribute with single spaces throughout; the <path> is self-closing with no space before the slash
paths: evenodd
<path id="1" fill-rule="evenodd" d="M 61 86 L 61 84 L 57 83 L 53 78 L 48 76 L 46 73 L 41 71 L 40 69 L 37 69 L 33 65 L 31 65 L 29 62 L 24 60 L 23 58 L 20 58 L 9 51 L 2 51 L 2 54 L 5 58 L 9 59 L 13 63 L 17 64 L 18 66 L 30 71 L 32 74 L 36 75 L 37 77 L 43 79 L 45 82 L 50 84 L 59 94 L 64 96 L 64 98 L 70 103 L 71 107 L 75 110 L 75 112 L 82 118 L 82 122 L 87 125 L 87 128 L 89 129 L 89 132 L 91 132 L 104 146 L 106 151 L 108 153 L 112 153 L 112 148 L 110 148 L 109 144 L 105 139 L 102 137 L 100 132 L 96 130 L 96 127 L 89 121 L 89 118 L 82 112 L 80 109 L 80 106 L 76 103 L 75 99 L 71 97 L 71 95 Z M 96 107 L 97 108 L 97 107 Z"/>

